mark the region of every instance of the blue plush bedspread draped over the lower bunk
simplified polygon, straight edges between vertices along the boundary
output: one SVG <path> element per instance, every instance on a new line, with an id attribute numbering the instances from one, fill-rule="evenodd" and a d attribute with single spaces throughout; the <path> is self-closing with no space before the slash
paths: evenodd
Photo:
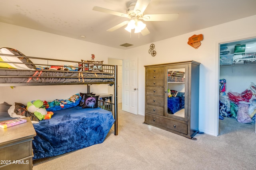
<path id="1" fill-rule="evenodd" d="M 76 106 L 54 111 L 51 119 L 33 124 L 33 160 L 102 143 L 114 121 L 112 113 L 101 108 Z"/>

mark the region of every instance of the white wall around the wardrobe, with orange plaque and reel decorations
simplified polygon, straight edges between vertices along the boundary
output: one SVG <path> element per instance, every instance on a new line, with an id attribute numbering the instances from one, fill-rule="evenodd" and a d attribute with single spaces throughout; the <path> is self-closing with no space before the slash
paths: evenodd
<path id="1" fill-rule="evenodd" d="M 154 42 L 156 56 L 148 54 L 150 44 L 126 51 L 126 57 L 138 57 L 138 114 L 144 115 L 145 68 L 148 64 L 194 60 L 200 62 L 199 130 L 218 135 L 219 43 L 256 37 L 256 16 L 216 25 L 163 41 Z M 171 28 L 170 28 L 171 31 Z M 192 35 L 203 34 L 198 49 L 187 44 Z"/>

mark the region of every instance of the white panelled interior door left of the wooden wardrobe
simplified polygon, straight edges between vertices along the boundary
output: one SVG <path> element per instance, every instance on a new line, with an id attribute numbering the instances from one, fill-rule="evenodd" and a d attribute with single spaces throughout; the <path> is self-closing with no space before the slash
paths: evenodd
<path id="1" fill-rule="evenodd" d="M 123 60 L 124 111 L 138 114 L 138 58 Z"/>

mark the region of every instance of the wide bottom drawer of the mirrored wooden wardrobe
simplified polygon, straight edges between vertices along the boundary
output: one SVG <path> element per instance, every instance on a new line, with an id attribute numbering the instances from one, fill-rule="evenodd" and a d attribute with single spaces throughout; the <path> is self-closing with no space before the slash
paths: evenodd
<path id="1" fill-rule="evenodd" d="M 170 119 L 164 119 L 162 117 L 158 117 L 150 114 L 146 114 L 146 122 L 151 123 L 152 125 L 167 128 L 173 131 L 188 134 L 188 125 L 185 123 L 172 121 Z"/>

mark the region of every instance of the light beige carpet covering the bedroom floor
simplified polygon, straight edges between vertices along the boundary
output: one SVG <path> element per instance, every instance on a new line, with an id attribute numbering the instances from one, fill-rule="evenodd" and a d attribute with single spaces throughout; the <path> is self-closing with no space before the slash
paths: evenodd
<path id="1" fill-rule="evenodd" d="M 119 104 L 118 108 L 121 108 Z M 255 170 L 255 124 L 219 121 L 219 136 L 193 141 L 144 124 L 144 116 L 118 109 L 105 141 L 52 158 L 34 160 L 34 170 Z"/>

